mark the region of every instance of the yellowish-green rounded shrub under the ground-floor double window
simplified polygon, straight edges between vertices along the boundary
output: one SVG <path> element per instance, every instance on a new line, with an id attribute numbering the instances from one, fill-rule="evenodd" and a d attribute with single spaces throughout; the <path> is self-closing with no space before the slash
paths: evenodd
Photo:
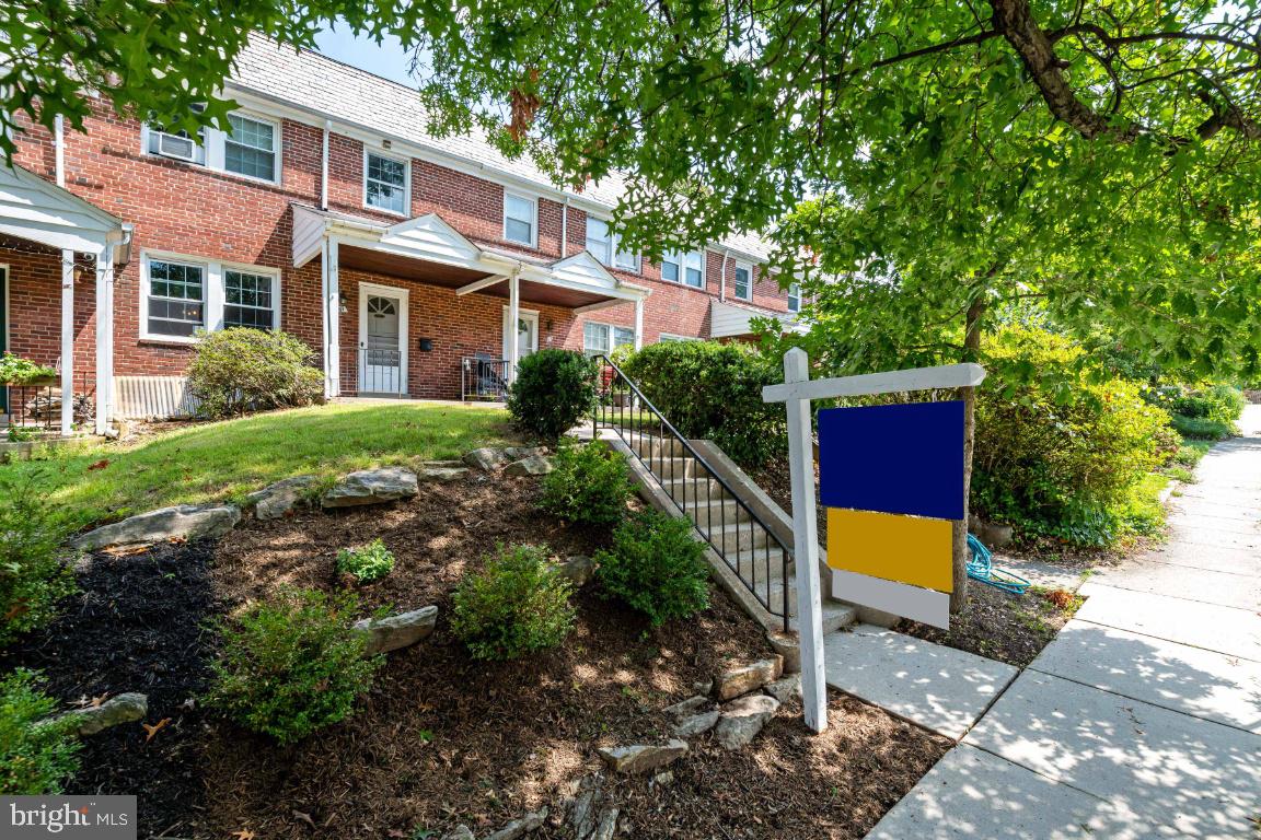
<path id="1" fill-rule="evenodd" d="M 208 417 L 310 406 L 324 398 L 324 374 L 310 366 L 313 358 L 288 332 L 232 327 L 203 334 L 188 389 Z"/>

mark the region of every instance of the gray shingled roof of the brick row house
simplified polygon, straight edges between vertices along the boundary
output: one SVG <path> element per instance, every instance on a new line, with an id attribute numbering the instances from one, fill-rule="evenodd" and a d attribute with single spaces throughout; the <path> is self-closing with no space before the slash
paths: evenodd
<path id="1" fill-rule="evenodd" d="M 472 161 L 489 170 L 488 174 L 521 179 L 551 190 L 561 189 L 528 156 L 508 157 L 484 136 L 435 137 L 427 131 L 425 111 L 415 89 L 311 50 L 295 52 L 256 35 L 237 58 L 237 69 L 228 88 Z M 624 189 L 623 179 L 614 175 L 588 186 L 581 194 L 569 194 L 612 209 Z M 769 246 L 754 234 L 728 237 L 720 247 L 724 246 L 752 257 L 769 256 Z"/>

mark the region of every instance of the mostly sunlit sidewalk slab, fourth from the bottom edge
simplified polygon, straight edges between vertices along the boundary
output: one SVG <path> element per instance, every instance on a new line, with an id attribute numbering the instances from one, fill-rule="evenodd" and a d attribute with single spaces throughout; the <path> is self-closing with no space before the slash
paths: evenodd
<path id="1" fill-rule="evenodd" d="M 1150 592 L 1082 586 L 1077 618 L 1261 662 L 1261 615 Z"/>

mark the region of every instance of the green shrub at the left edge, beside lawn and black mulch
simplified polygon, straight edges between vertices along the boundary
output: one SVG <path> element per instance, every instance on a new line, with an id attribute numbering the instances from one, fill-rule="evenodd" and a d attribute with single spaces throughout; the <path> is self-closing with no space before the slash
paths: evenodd
<path id="1" fill-rule="evenodd" d="M 0 481 L 0 645 L 48 623 L 57 602 L 74 592 L 61 557 L 67 524 L 44 500 L 37 475 Z"/>

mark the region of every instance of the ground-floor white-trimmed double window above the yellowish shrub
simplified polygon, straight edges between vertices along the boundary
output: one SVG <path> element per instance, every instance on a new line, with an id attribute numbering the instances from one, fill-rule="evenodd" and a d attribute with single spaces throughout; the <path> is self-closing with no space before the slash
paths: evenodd
<path id="1" fill-rule="evenodd" d="M 280 329 L 280 272 L 165 253 L 141 254 L 140 338 L 195 341 L 199 330 Z"/>

